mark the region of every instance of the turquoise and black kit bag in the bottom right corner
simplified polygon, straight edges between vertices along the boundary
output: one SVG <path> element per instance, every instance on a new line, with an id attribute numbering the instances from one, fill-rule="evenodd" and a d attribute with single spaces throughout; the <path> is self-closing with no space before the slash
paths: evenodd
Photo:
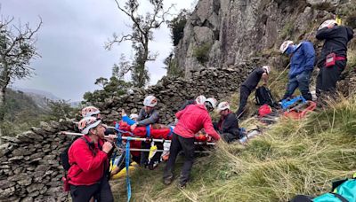
<path id="1" fill-rule="evenodd" d="M 356 177 L 356 175 L 355 175 Z M 291 202 L 353 202 L 356 201 L 356 179 L 344 179 L 332 183 L 332 192 L 319 197 L 298 195 Z"/>

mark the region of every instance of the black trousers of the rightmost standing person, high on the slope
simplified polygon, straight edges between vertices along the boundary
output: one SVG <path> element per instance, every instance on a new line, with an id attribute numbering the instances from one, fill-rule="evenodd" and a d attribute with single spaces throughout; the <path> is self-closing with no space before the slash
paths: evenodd
<path id="1" fill-rule="evenodd" d="M 340 75 L 344 71 L 346 62 L 346 60 L 338 60 L 335 66 L 323 66 L 320 68 L 316 85 L 317 97 L 336 96 L 336 82 L 340 80 Z"/>

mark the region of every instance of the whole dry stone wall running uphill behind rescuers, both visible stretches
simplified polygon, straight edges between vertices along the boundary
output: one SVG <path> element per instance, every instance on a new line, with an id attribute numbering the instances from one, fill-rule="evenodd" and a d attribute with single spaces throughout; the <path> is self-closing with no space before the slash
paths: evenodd
<path id="1" fill-rule="evenodd" d="M 102 118 L 110 123 L 118 120 L 119 110 L 136 112 L 147 95 L 158 97 L 161 122 L 174 121 L 174 113 L 187 100 L 200 94 L 222 100 L 239 89 L 256 63 L 234 68 L 206 68 L 192 72 L 192 79 L 163 78 L 149 89 L 134 90 L 123 97 L 107 99 L 97 105 Z M 74 131 L 75 120 L 42 122 L 38 128 L 16 137 L 2 137 L 0 145 L 0 201 L 66 201 L 61 189 L 63 169 L 59 155 L 72 140 L 60 131 Z"/>

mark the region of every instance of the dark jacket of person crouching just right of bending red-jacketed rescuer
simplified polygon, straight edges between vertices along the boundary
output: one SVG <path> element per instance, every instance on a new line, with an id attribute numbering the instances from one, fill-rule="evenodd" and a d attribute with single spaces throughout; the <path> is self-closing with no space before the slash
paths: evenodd
<path id="1" fill-rule="evenodd" d="M 235 113 L 229 113 L 225 117 L 221 117 L 217 123 L 217 128 L 220 134 L 230 133 L 239 136 L 239 122 Z"/>

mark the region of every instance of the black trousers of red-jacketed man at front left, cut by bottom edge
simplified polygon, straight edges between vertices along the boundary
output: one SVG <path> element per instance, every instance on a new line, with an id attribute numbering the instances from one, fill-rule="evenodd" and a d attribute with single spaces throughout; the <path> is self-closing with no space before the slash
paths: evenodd
<path id="1" fill-rule="evenodd" d="M 98 202 L 113 202 L 109 180 L 104 177 L 101 183 L 94 183 L 92 185 L 70 185 L 70 196 L 73 202 L 86 202 L 94 197 Z"/>

